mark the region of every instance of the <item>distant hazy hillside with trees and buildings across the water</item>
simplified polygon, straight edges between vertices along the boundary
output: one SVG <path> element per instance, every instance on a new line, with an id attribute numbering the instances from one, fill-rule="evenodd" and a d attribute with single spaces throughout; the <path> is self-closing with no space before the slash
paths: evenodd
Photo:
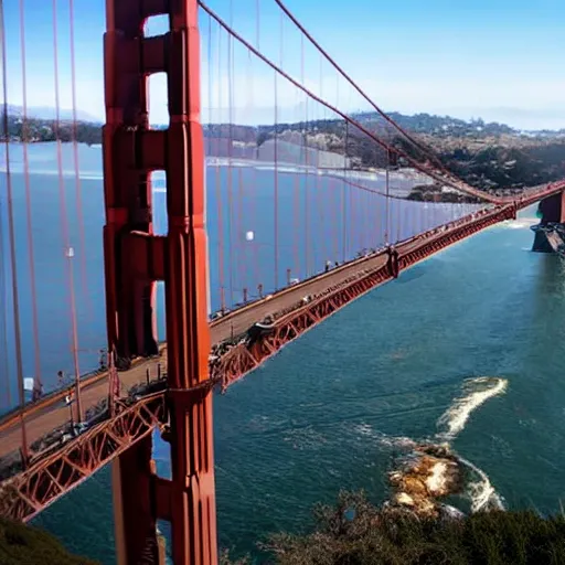
<path id="1" fill-rule="evenodd" d="M 8 124 L 9 139 L 21 141 L 25 138 L 30 142 L 55 140 L 52 119 L 29 118 L 24 125 L 18 108 L 12 109 Z M 36 111 L 38 115 L 47 115 L 44 108 L 36 108 Z M 504 124 L 487 124 L 481 119 L 466 121 L 429 114 L 405 116 L 391 113 L 390 116 L 420 145 L 431 148 L 449 170 L 482 190 L 518 190 L 565 178 L 564 132 L 524 134 Z M 377 114 L 359 113 L 354 118 L 392 147 L 422 161 L 423 156 Z M 273 161 L 276 139 L 279 162 L 285 163 L 366 170 L 385 167 L 387 161 L 384 150 L 377 149 L 371 138 L 342 119 L 277 124 L 276 127 L 205 124 L 203 129 L 209 157 Z M 1 126 L 0 136 L 3 137 Z M 70 120 L 62 120 L 60 138 L 63 141 L 73 139 Z M 100 143 L 100 124 L 78 121 L 76 139 L 82 143 Z"/>

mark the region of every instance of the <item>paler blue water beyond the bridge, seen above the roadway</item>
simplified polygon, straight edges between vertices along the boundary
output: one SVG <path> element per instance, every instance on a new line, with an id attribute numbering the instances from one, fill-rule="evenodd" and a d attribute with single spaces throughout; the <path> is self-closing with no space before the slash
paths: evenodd
<path id="1" fill-rule="evenodd" d="M 99 348 L 106 341 L 102 248 L 104 223 L 102 151 L 99 147 L 79 146 L 79 183 L 84 217 L 82 227 L 76 213 L 76 179 L 72 146 L 64 145 L 62 149 L 63 177 L 60 183 L 56 146 L 54 143 L 29 146 L 32 235 L 38 280 L 36 310 L 40 343 L 38 354 L 33 345 L 32 331 L 33 302 L 28 258 L 23 152 L 21 145 L 10 146 L 24 352 L 23 373 L 24 376 L 32 376 L 41 370 L 45 392 L 56 385 L 57 371 L 63 370 L 67 374 L 74 374 L 65 230 L 68 231 L 70 244 L 75 249 L 72 269 L 76 281 L 81 372 L 96 367 Z M 3 154 L 0 157 L 0 171 L 3 172 L 6 163 L 2 159 L 6 161 Z M 275 171 L 268 167 L 268 163 L 262 163 L 257 169 L 245 167 L 228 169 L 221 166 L 210 166 L 206 169 L 212 310 L 221 307 L 222 287 L 225 303 L 231 308 L 243 300 L 244 288 L 248 290 L 248 297 L 253 298 L 258 294 L 259 284 L 263 285 L 265 294 L 285 286 L 287 269 L 290 269 L 292 278 L 302 279 L 322 270 L 328 259 L 332 263 L 351 259 L 362 248 L 382 246 L 386 236 L 390 241 L 404 239 L 477 207 L 468 204 L 423 204 L 393 200 L 387 209 L 383 196 L 351 188 L 334 174 L 327 177 L 297 174 L 289 167 L 281 170 L 282 172 L 279 171 L 277 177 L 278 210 L 277 234 L 275 234 Z M 372 177 L 364 181 L 364 184 L 383 190 L 384 178 Z M 353 180 L 361 182 L 356 175 Z M 406 181 L 393 175 L 391 190 L 406 193 L 409 182 L 422 181 L 417 179 Z M 0 173 L 0 230 L 3 225 L 6 242 L 3 263 L 6 277 L 10 279 L 7 255 L 6 183 L 6 175 Z M 154 228 L 157 233 L 166 233 L 166 183 L 162 173 L 156 173 L 154 185 L 152 195 Z M 61 209 L 60 192 L 65 195 L 68 226 L 63 222 L 65 215 Z M 218 203 L 222 206 L 218 206 Z M 341 204 L 343 204 L 342 207 L 340 207 Z M 386 215 L 388 215 L 388 222 L 386 222 Z M 387 227 L 388 234 L 386 234 Z M 247 232 L 253 232 L 253 241 L 246 241 Z M 275 263 L 274 253 L 276 236 L 278 238 L 277 263 Z M 1 260 L 0 267 L 2 267 Z M 8 301 L 11 303 L 10 291 Z M 162 287 L 158 292 L 158 309 L 160 312 L 164 311 Z M 60 329 L 57 335 L 53 334 L 55 321 Z M 159 316 L 158 322 L 160 335 L 164 339 L 162 316 Z M 12 394 L 11 402 L 0 397 L 0 411 L 10 405 L 13 406 L 15 402 L 13 334 L 10 311 L 8 371 Z M 1 343 L 2 340 L 0 340 L 0 348 L 2 348 Z M 0 371 L 2 371 L 1 364 Z"/>

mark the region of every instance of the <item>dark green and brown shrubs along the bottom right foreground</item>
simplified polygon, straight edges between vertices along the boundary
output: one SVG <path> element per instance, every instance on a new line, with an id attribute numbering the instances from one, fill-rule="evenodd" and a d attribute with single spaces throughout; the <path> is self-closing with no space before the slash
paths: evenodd
<path id="1" fill-rule="evenodd" d="M 280 565 L 558 565 L 565 518 L 531 511 L 481 512 L 462 520 L 418 520 L 342 492 L 315 510 L 307 535 L 273 535 L 263 550 Z"/>

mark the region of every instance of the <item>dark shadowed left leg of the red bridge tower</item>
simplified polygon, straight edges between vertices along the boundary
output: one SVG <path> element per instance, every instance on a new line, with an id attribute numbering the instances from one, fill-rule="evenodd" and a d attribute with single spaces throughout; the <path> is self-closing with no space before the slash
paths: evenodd
<path id="1" fill-rule="evenodd" d="M 118 369 L 129 366 L 136 356 L 158 353 L 156 271 L 162 271 L 163 245 L 153 235 L 150 173 L 164 169 L 164 138 L 150 129 L 147 83 L 151 72 L 164 71 L 159 68 L 164 66 L 164 39 L 146 39 L 145 23 L 151 15 L 166 13 L 167 3 L 106 0 L 104 263 L 108 355 L 114 355 Z M 109 390 L 108 395 L 113 394 Z M 120 565 L 139 563 L 142 556 L 159 558 L 147 443 L 136 457 L 124 454 L 114 466 Z"/>

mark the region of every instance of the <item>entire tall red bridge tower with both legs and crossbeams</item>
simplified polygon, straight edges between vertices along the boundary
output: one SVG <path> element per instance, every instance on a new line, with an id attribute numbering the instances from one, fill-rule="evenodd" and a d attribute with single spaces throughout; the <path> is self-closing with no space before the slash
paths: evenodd
<path id="1" fill-rule="evenodd" d="M 154 15 L 169 32 L 146 38 Z M 151 438 L 115 462 L 118 562 L 158 562 L 156 521 L 172 526 L 175 565 L 215 564 L 212 392 L 207 359 L 204 151 L 196 0 L 106 0 L 104 228 L 108 350 L 128 366 L 158 352 L 156 281 L 164 280 L 171 480 L 156 476 Z M 168 76 L 170 126 L 153 130 L 148 76 Z M 150 173 L 167 177 L 169 233 L 152 230 Z"/>

